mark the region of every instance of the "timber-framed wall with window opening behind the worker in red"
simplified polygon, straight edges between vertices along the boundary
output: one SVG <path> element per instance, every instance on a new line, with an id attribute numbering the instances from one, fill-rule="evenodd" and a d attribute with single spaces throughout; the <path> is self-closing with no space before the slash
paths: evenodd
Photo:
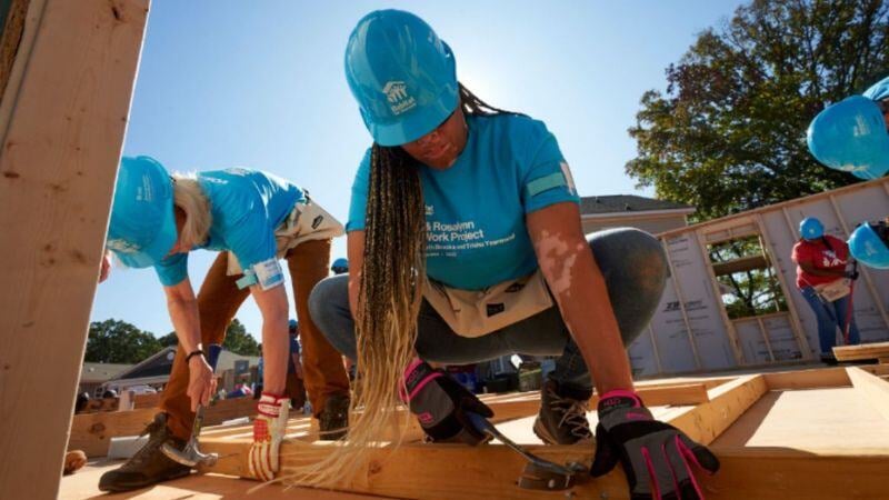
<path id="1" fill-rule="evenodd" d="M 818 358 L 818 323 L 796 287 L 790 254 L 798 226 L 817 217 L 846 240 L 866 220 L 889 214 L 889 179 L 763 207 L 658 234 L 671 278 L 651 324 L 629 348 L 633 373 L 657 377 L 788 364 Z M 788 311 L 730 320 L 707 246 L 759 237 Z M 889 272 L 859 267 L 853 309 L 862 342 L 889 340 Z"/>

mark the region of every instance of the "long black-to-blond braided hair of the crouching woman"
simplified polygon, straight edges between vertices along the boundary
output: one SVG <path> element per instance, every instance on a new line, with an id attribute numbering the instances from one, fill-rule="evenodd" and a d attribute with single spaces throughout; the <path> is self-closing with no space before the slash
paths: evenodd
<path id="1" fill-rule="evenodd" d="M 507 113 L 459 84 L 460 106 L 472 116 Z M 342 487 L 367 464 L 371 448 L 387 444 L 397 427 L 398 446 L 410 422 L 393 411 L 403 390 L 403 370 L 413 358 L 417 316 L 426 279 L 426 210 L 420 163 L 400 147 L 374 143 L 364 216 L 363 264 L 356 304 L 357 372 L 347 441 L 320 461 L 290 469 L 299 484 Z M 401 418 L 396 416 L 400 414 Z M 302 458 L 302 456 L 300 456 Z M 302 462 L 302 460 L 300 460 Z M 306 457 L 306 462 L 310 459 Z"/>

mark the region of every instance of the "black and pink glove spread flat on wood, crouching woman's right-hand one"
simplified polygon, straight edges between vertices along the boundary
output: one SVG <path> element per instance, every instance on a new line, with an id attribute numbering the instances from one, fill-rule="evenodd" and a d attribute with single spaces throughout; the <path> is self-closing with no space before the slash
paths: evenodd
<path id="1" fill-rule="evenodd" d="M 679 429 L 651 417 L 632 391 L 615 390 L 599 400 L 593 477 L 623 467 L 630 498 L 703 499 L 691 472 L 693 463 L 707 472 L 719 470 L 719 460 Z"/>

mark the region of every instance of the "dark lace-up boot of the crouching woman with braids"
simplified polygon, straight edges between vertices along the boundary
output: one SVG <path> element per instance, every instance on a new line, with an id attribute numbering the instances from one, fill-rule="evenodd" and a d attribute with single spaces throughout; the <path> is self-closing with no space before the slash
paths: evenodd
<path id="1" fill-rule="evenodd" d="M 592 438 L 587 420 L 592 389 L 559 387 L 547 380 L 540 389 L 540 413 L 535 420 L 535 433 L 547 444 L 573 444 Z"/>

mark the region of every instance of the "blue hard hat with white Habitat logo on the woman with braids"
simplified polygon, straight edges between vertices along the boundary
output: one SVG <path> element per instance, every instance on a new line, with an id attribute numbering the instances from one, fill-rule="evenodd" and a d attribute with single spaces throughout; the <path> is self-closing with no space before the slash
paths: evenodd
<path id="1" fill-rule="evenodd" d="M 400 146 L 434 130 L 457 109 L 451 49 L 417 16 L 364 16 L 346 47 L 346 80 L 380 146 Z"/>

